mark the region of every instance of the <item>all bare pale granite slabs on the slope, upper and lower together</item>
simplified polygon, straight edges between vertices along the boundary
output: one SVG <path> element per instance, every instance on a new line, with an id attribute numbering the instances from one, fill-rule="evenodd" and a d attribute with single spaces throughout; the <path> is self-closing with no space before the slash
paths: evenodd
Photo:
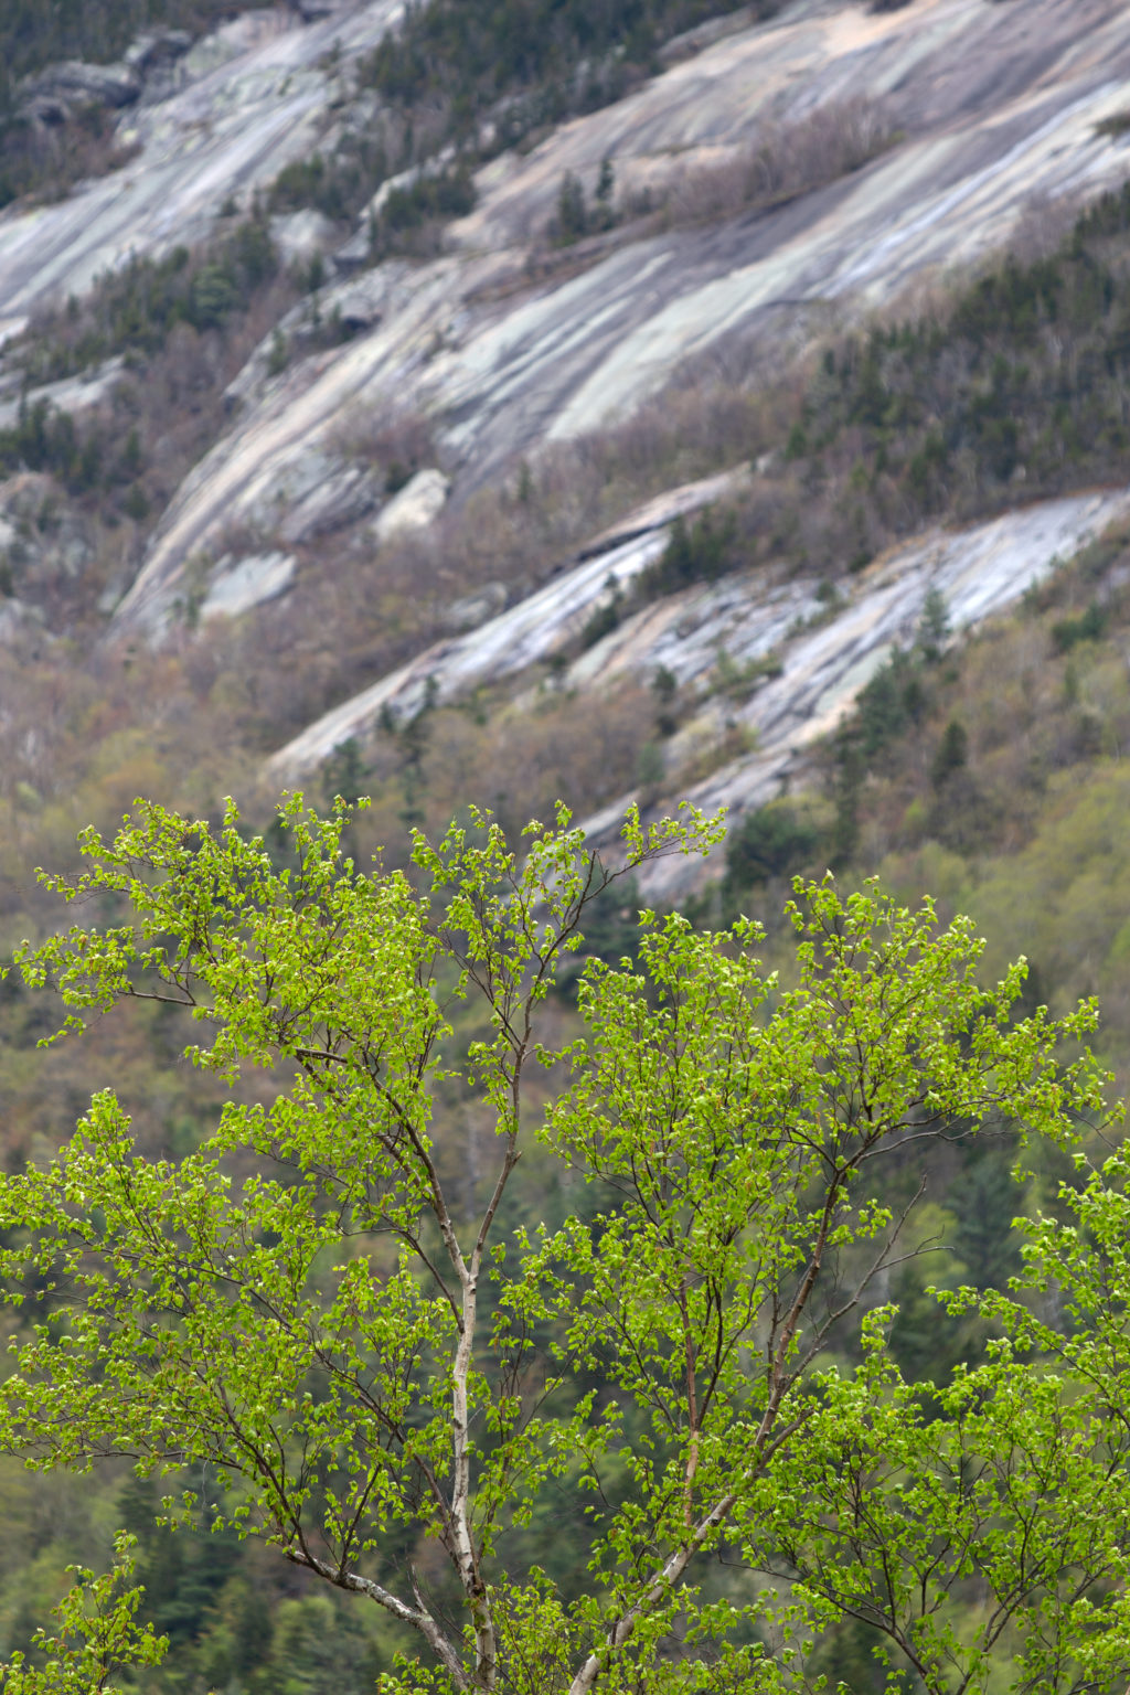
<path id="1" fill-rule="evenodd" d="M 0 217 L 0 334 L 15 336 L 29 314 L 127 254 L 202 239 L 232 200 L 249 203 L 281 166 L 315 142 L 332 151 L 344 124 L 371 115 L 351 71 L 400 5 L 317 10 L 313 20 L 249 12 L 195 44 L 124 110 L 120 134 L 137 153 L 122 171 L 59 205 Z M 481 490 L 513 485 L 554 444 L 630 419 L 695 361 L 756 375 L 759 361 L 779 366 L 1006 241 L 1039 244 L 1059 202 L 1074 207 L 1127 175 L 1128 17 L 1125 0 L 915 0 L 893 12 L 798 0 L 759 25 L 737 14 L 674 42 L 662 73 L 617 105 L 485 164 L 474 210 L 434 259 L 371 263 L 385 188 L 325 254 L 317 314 L 339 325 L 337 342 L 322 337 L 303 354 L 310 300 L 280 325 L 285 368 L 278 336 L 263 342 L 105 639 L 207 642 L 217 619 L 254 620 L 295 588 L 317 609 L 341 532 L 379 585 L 396 534 L 427 532 L 444 508 L 457 525 Z M 789 178 L 801 154 L 811 168 Z M 764 192 L 749 188 L 751 161 Z M 562 181 L 576 178 L 598 205 L 601 171 L 605 227 L 556 242 Z M 290 224 L 276 227 L 280 242 L 317 246 L 317 231 Z M 63 400 L 97 403 L 114 380 L 114 370 L 88 375 Z M 420 422 L 434 463 L 390 495 L 351 441 Z M 440 698 L 483 681 L 513 680 L 520 692 L 532 664 L 561 654 L 559 680 L 578 690 L 657 666 L 693 686 L 700 710 L 669 764 L 695 737 L 739 724 L 754 749 L 695 798 L 757 805 L 905 639 L 928 586 L 969 624 L 1127 505 L 1122 493 L 1084 493 L 962 536 L 930 534 L 834 597 L 803 575 L 730 576 L 639 610 L 571 658 L 610 576 L 627 585 L 659 556 L 678 510 L 756 476 L 739 468 L 676 490 L 598 537 L 581 563 L 546 559 L 546 571 L 564 568 L 517 605 L 500 610 L 493 588 L 476 598 L 456 585 L 452 625 L 478 627 L 374 675 L 276 753 L 269 780 L 308 776 L 342 741 L 368 736 L 383 709 L 410 714 L 429 680 Z M 188 595 L 200 612 L 191 637 L 178 624 Z M 751 676 L 771 658 L 778 675 L 735 700 L 718 683 L 720 653 Z M 600 820 L 593 829 L 600 836 Z"/>

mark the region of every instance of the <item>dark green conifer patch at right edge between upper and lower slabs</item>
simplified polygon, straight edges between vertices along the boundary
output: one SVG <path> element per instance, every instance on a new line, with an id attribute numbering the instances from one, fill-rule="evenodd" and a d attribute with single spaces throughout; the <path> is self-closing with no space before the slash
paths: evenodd
<path id="1" fill-rule="evenodd" d="M 984 508 L 1005 490 L 1120 475 L 1130 420 L 1130 186 L 1032 264 L 1006 259 L 940 320 L 876 327 L 828 351 L 795 456 L 857 441 L 856 483 L 915 514 Z"/>

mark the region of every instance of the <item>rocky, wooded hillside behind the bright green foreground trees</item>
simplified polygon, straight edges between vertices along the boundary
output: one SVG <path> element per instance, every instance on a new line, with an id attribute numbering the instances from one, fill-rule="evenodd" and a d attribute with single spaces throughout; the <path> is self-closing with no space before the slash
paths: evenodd
<path id="1" fill-rule="evenodd" d="M 690 798 L 727 849 L 647 868 L 593 951 L 639 898 L 754 912 L 773 958 L 793 873 L 879 873 L 1028 954 L 1033 1005 L 1098 993 L 1127 1086 L 1127 0 L 46 20 L 0 0 L 5 956 L 59 922 L 34 868 L 137 795 L 249 829 L 369 795 L 351 848 L 391 864 L 473 802 L 564 798 L 612 856 Z M 222 1093 L 173 1024 L 39 1049 L 0 981 L 5 1159 L 107 1075 L 193 1148 Z M 1005 1166 L 935 1173 L 984 1287 Z M 0 1648 L 127 1522 L 174 1639 L 139 1687 L 371 1688 L 395 1631 L 215 1554 L 202 1490 L 176 1539 L 147 1485 L 0 1459 Z M 872 1695 L 867 1644 L 815 1664 Z"/>

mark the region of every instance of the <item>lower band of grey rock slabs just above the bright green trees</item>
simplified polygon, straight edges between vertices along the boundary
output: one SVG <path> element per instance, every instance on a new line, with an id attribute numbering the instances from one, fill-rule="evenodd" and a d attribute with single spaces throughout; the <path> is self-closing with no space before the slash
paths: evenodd
<path id="1" fill-rule="evenodd" d="M 600 688 L 617 675 L 649 676 L 666 666 L 681 686 L 705 685 L 722 651 L 732 664 L 747 666 L 747 698 L 727 702 L 725 712 L 715 709 L 717 734 L 723 715 L 730 724 L 745 724 L 757 753 L 690 792 L 696 805 L 725 805 L 740 817 L 764 805 L 813 741 L 835 727 L 895 642 L 913 639 L 932 588 L 945 598 L 956 629 L 974 625 L 1127 514 L 1130 490 L 1044 502 L 969 531 L 933 532 L 854 578 L 845 598 L 832 607 L 818 598 L 811 580 L 773 581 L 762 571 L 723 578 L 640 609 L 581 654 L 562 681 Z M 629 585 L 659 558 L 666 539 L 667 531 L 659 529 L 595 554 L 473 634 L 429 647 L 281 747 L 268 761 L 268 778 L 305 778 L 344 741 L 364 739 L 385 709 L 412 715 L 429 693 L 439 702 L 457 700 L 488 680 L 517 676 L 559 654 L 607 597 L 608 578 Z M 751 661 L 769 654 L 774 664 L 756 680 Z M 615 851 L 632 798 L 625 795 L 588 820 L 586 834 L 601 851 Z M 671 802 L 662 805 L 669 809 Z M 647 871 L 642 886 L 649 898 L 674 898 L 696 876 L 698 866 L 662 861 Z"/>

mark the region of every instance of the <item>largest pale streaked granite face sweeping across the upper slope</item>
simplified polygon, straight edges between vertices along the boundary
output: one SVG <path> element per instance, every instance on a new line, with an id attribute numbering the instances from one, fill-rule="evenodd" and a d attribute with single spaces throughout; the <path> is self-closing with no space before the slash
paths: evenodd
<path id="1" fill-rule="evenodd" d="M 356 39 L 371 14 L 334 29 Z M 974 264 L 1049 198 L 1122 180 L 1130 149 L 1096 125 L 1125 105 L 1125 0 L 800 5 L 495 159 L 449 253 L 324 290 L 322 314 L 347 312 L 352 339 L 281 381 L 259 359 L 234 385 L 241 410 L 173 500 L 119 625 L 159 631 L 193 551 L 346 417 L 427 417 L 457 510 L 539 446 L 629 417 L 688 359 L 803 346 Z M 557 258 L 547 247 L 566 171 L 591 193 L 610 159 L 627 203 L 649 185 L 693 185 L 767 125 L 788 144 L 789 125 L 861 100 L 903 139 L 822 188 L 662 232 L 629 222 Z"/>

